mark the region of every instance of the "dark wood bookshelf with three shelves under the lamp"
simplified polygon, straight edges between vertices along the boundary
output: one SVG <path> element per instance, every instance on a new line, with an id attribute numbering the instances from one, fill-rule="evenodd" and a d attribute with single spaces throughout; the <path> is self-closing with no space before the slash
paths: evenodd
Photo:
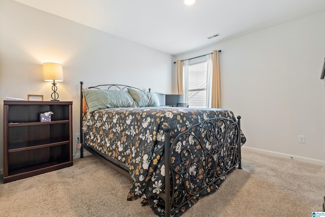
<path id="1" fill-rule="evenodd" d="M 72 102 L 5 100 L 4 183 L 72 166 L 72 138 Z"/>

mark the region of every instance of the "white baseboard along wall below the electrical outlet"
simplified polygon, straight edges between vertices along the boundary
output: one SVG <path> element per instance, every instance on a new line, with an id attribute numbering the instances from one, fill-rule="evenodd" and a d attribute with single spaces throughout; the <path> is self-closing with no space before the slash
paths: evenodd
<path id="1" fill-rule="evenodd" d="M 285 153 L 268 151 L 268 150 L 263 150 L 263 149 L 258 149 L 258 148 L 245 147 L 245 146 L 242 146 L 242 149 L 247 150 L 247 151 L 256 152 L 256 153 L 264 153 L 264 154 L 268 154 L 268 155 L 275 156 L 275 157 L 300 161 L 300 162 L 304 162 L 304 163 L 325 166 L 325 161 L 319 161 L 316 159 L 305 158 L 305 157 L 300 157 L 300 156 L 293 156 L 293 155 L 289 155 L 289 154 L 285 154 Z"/>

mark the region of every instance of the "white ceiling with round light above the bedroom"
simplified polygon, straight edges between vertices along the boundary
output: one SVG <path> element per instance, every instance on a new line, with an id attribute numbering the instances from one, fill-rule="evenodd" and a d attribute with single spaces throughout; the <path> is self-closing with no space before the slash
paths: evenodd
<path id="1" fill-rule="evenodd" d="M 173 55 L 325 10 L 324 0 L 15 1 Z"/>

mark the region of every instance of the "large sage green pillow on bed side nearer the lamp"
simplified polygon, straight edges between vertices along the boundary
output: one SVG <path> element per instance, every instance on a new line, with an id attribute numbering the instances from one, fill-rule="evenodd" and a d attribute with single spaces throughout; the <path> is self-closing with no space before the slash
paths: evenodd
<path id="1" fill-rule="evenodd" d="M 126 91 L 111 89 L 85 89 L 82 91 L 89 113 L 98 109 L 136 107 L 132 97 Z"/>

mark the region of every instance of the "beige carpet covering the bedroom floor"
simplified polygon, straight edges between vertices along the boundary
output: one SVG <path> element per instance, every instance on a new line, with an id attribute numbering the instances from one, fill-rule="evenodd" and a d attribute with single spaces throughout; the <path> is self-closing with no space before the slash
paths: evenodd
<path id="1" fill-rule="evenodd" d="M 242 151 L 235 170 L 184 216 L 311 216 L 322 211 L 325 167 Z M 93 156 L 74 166 L 0 184 L 0 216 L 155 216 L 126 201 L 130 181 Z"/>

